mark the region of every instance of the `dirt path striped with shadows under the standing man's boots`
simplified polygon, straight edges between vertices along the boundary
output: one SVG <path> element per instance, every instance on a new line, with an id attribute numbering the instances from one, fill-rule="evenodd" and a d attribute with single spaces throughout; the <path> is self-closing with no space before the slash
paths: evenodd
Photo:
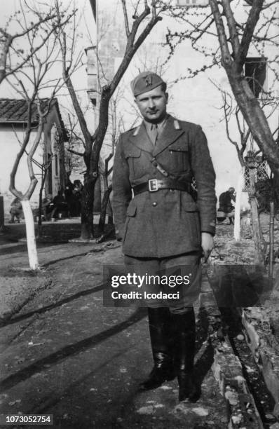
<path id="1" fill-rule="evenodd" d="M 138 389 L 152 365 L 146 311 L 102 302 L 102 267 L 121 261 L 115 245 L 40 249 L 53 282 L 1 329 L 1 413 L 53 414 L 64 429 L 226 427 L 203 329 L 196 404 L 179 404 L 177 381 Z"/>

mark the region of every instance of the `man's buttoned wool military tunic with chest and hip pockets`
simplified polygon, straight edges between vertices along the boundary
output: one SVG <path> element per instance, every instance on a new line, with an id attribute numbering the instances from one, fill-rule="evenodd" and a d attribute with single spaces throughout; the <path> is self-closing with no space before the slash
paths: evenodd
<path id="1" fill-rule="evenodd" d="M 156 161 L 177 182 L 196 180 L 197 200 L 177 189 L 142 192 L 133 186 L 163 179 Z M 164 258 L 200 252 L 200 232 L 215 234 L 215 171 L 199 125 L 168 116 L 156 146 L 144 124 L 124 132 L 114 159 L 113 209 L 123 253 L 135 258 Z"/>

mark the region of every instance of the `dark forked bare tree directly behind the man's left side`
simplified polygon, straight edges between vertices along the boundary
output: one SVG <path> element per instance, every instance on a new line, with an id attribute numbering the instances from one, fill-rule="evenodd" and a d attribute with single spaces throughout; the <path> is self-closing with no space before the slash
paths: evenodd
<path id="1" fill-rule="evenodd" d="M 156 23 L 162 19 L 161 13 L 165 10 L 165 5 L 160 6 L 161 1 L 144 0 L 142 11 L 138 11 L 138 7 L 135 8 L 132 17 L 129 19 L 128 8 L 126 6 L 125 0 L 121 0 L 121 3 L 123 7 L 123 18 L 125 23 L 125 53 L 111 81 L 102 86 L 100 93 L 99 123 L 93 135 L 91 135 L 88 130 L 86 120 L 83 116 L 83 112 L 81 111 L 74 86 L 69 76 L 69 73 L 75 63 L 72 55 L 72 41 L 70 43 L 71 46 L 68 46 L 68 39 L 65 32 L 62 32 L 60 37 L 60 46 L 63 57 L 63 78 L 72 98 L 76 116 L 79 118 L 79 124 L 86 144 L 85 151 L 82 154 L 86 164 L 86 175 L 81 203 L 81 238 L 86 240 L 93 238 L 94 189 L 97 177 L 99 175 L 100 151 L 109 124 L 109 101 L 118 87 L 123 74 L 128 68 L 132 57 L 134 57 L 138 48 L 140 48 Z M 57 11 L 58 10 L 59 8 L 57 4 Z M 130 23 L 130 20 L 132 20 L 132 24 Z M 72 40 L 74 40 L 74 38 L 72 38 Z"/>

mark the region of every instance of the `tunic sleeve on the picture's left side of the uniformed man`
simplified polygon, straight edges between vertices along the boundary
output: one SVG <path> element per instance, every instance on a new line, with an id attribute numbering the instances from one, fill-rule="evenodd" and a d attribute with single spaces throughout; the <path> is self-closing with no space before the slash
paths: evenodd
<path id="1" fill-rule="evenodd" d="M 123 139 L 119 137 L 114 156 L 114 174 L 112 177 L 112 208 L 117 240 L 122 240 L 127 207 L 132 198 L 129 181 L 129 168 L 123 152 Z"/>

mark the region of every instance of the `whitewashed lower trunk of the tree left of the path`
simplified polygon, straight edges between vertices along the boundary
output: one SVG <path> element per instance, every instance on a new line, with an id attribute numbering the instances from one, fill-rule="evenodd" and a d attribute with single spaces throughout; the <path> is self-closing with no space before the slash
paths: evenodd
<path id="1" fill-rule="evenodd" d="M 27 238 L 27 250 L 29 258 L 29 266 L 32 270 L 39 268 L 38 253 L 36 249 L 35 226 L 32 208 L 29 200 L 22 200 L 22 210 L 25 214 L 25 228 Z"/>

